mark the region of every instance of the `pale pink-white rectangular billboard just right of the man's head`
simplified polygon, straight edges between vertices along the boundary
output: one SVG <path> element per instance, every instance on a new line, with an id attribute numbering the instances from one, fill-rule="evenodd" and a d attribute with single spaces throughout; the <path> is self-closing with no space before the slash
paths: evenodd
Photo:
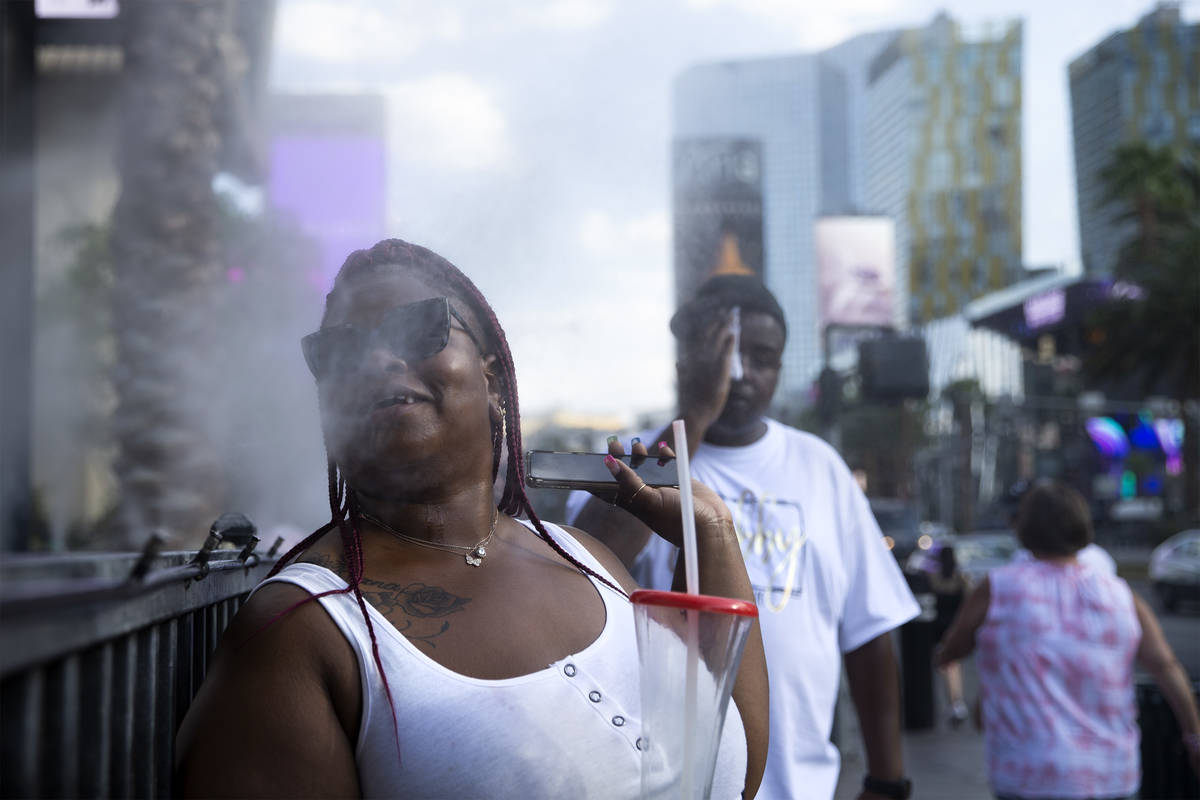
<path id="1" fill-rule="evenodd" d="M 895 320 L 895 224 L 888 217 L 816 222 L 821 329 L 892 327 Z"/>

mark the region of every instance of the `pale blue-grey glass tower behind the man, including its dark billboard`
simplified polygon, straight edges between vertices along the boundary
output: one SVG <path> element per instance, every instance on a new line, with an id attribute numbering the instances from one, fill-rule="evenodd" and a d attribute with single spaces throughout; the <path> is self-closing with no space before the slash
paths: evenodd
<path id="1" fill-rule="evenodd" d="M 890 36 L 697 65 L 674 84 L 677 294 L 718 271 L 762 275 L 788 315 L 785 404 L 821 367 L 814 224 L 862 210 L 866 66 Z"/>

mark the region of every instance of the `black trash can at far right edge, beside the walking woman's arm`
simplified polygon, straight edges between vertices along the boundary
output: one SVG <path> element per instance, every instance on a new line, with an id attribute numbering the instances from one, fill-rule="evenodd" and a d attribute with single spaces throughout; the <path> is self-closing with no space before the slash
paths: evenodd
<path id="1" fill-rule="evenodd" d="M 1193 684 L 1192 692 L 1200 696 L 1200 684 Z M 1200 798 L 1200 781 L 1188 763 L 1171 706 L 1158 686 L 1148 680 L 1138 681 L 1138 726 L 1141 728 L 1139 796 L 1156 800 Z"/>

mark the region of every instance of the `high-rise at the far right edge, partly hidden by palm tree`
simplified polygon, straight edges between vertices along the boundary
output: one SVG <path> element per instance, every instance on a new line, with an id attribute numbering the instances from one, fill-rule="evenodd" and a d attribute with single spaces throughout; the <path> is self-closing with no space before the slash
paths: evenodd
<path id="1" fill-rule="evenodd" d="M 1100 173 L 1127 142 L 1200 148 L 1200 24 L 1160 4 L 1070 62 L 1075 196 L 1084 271 L 1112 271 L 1132 223 L 1103 205 Z"/>

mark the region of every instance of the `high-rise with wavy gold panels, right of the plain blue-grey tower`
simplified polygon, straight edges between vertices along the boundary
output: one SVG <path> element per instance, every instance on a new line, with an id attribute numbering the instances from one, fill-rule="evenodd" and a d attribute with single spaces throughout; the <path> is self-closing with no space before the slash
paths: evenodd
<path id="1" fill-rule="evenodd" d="M 1021 279 L 1021 23 L 938 14 L 870 65 L 865 201 L 896 224 L 907 321 Z"/>

